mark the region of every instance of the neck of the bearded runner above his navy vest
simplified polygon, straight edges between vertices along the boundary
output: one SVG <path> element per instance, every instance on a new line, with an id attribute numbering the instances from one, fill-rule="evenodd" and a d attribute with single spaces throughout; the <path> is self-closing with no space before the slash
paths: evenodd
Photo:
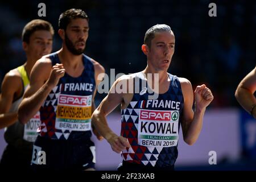
<path id="1" fill-rule="evenodd" d="M 76 68 L 82 63 L 82 55 L 73 55 L 68 51 L 68 48 L 63 46 L 59 51 L 59 57 L 63 65 L 71 68 Z"/>

